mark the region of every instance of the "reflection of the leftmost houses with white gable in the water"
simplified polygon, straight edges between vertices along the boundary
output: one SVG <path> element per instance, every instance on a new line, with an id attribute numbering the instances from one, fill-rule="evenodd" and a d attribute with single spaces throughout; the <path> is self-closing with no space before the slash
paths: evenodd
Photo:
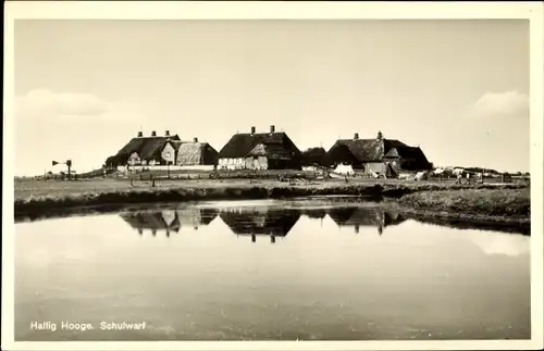
<path id="1" fill-rule="evenodd" d="M 138 230 L 141 235 L 144 230 L 151 230 L 157 235 L 158 230 L 165 230 L 166 236 L 171 231 L 178 233 L 183 226 L 198 228 L 208 225 L 217 216 L 217 211 L 212 209 L 188 209 L 188 210 L 160 210 L 160 211 L 137 211 L 125 212 L 121 217 Z"/>

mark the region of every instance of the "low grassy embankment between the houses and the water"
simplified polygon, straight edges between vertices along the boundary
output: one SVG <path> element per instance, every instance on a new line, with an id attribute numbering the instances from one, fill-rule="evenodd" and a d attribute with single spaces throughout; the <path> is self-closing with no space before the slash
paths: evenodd
<path id="1" fill-rule="evenodd" d="M 143 202 L 265 199 L 307 196 L 368 196 L 386 199 L 406 215 L 432 221 L 530 223 L 526 184 L 454 185 L 453 181 L 342 180 L 283 183 L 276 180 L 160 180 L 131 186 L 128 180 L 16 180 L 15 217 L 114 211 Z"/>

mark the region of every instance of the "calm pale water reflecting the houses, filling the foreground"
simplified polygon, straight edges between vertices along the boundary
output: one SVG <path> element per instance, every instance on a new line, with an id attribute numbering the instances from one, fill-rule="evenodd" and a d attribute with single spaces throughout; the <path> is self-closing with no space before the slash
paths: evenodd
<path id="1" fill-rule="evenodd" d="M 15 245 L 16 340 L 530 338 L 529 236 L 379 204 L 139 209 L 17 223 Z"/>

